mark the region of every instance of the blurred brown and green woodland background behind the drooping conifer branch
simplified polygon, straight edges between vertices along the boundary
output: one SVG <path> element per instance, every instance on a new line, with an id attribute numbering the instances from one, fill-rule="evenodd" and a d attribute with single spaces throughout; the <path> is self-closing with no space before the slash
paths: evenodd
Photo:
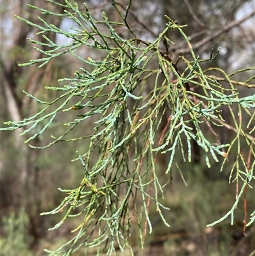
<path id="1" fill-rule="evenodd" d="M 59 0 L 59 2 L 64 1 Z M 81 8 L 84 8 L 82 7 L 84 2 L 87 3 L 95 19 L 102 19 L 101 12 L 105 11 L 109 20 L 121 21 L 110 0 L 77 0 Z M 36 34 L 38 32 L 36 27 L 20 22 L 14 15 L 40 24 L 38 16 L 42 17 L 41 13 L 28 8 L 26 4 L 33 4 L 55 13 L 63 13 L 64 10 L 41 0 L 1 0 L 0 4 L 0 123 L 3 127 L 4 121 L 22 120 L 40 111 L 41 105 L 35 104 L 31 98 L 22 93 L 22 90 L 41 100 L 50 101 L 57 96 L 57 92 L 47 91 L 45 86 L 57 87 L 58 79 L 73 77 L 73 73 L 84 64 L 71 54 L 65 54 L 40 69 L 37 64 L 19 67 L 19 63 L 43 57 L 33 48 L 34 45 L 27 41 L 27 37 L 38 41 L 44 39 Z M 124 11 L 128 1 L 119 0 L 117 4 Z M 255 66 L 254 10 L 254 0 L 140 0 L 132 3 L 129 11 L 129 26 L 133 28 L 138 38 L 153 41 L 163 31 L 167 22 L 164 15 L 168 15 L 171 19 L 178 20 L 179 24 L 188 25 L 184 32 L 189 36 L 196 55 L 202 58 L 209 57 L 211 49 L 221 47 L 219 56 L 214 61 L 205 63 L 203 68 L 210 65 L 220 67 L 226 73 L 232 73 L 240 68 Z M 65 17 L 47 15 L 43 19 L 66 31 L 73 26 Z M 119 29 L 117 33 L 123 38 L 131 37 L 125 29 Z M 59 44 L 66 43 L 67 40 L 53 33 L 48 33 L 47 37 Z M 182 36 L 177 32 L 169 32 L 168 37 L 175 42 L 175 45 L 168 49 L 171 59 L 177 59 L 180 52 L 189 58 L 189 48 Z M 99 52 L 94 52 L 93 49 L 83 48 L 79 51 L 84 58 L 101 58 Z M 242 72 L 234 79 L 245 81 L 249 77 L 251 72 Z M 255 84 L 254 80 L 251 83 Z M 255 89 L 240 87 L 238 92 L 241 96 L 245 96 L 254 94 Z M 64 119 L 72 118 L 72 115 L 65 112 L 62 116 L 58 116 L 59 124 L 62 124 Z M 228 112 L 223 115 L 228 121 Z M 85 136 L 85 131 L 90 128 L 89 124 L 87 127 L 84 126 L 84 130 L 77 131 L 80 133 L 77 137 Z M 62 125 L 55 123 L 43 135 L 33 140 L 32 144 L 46 145 L 50 142 L 51 135 L 56 136 L 61 131 L 64 131 Z M 84 149 L 86 145 L 80 141 L 63 147 L 60 142 L 47 149 L 32 149 L 24 144 L 25 137 L 18 136 L 21 132 L 22 130 L 15 130 L 0 133 L 1 255 L 47 255 L 43 252 L 43 248 L 54 250 L 62 245 L 72 237 L 70 231 L 80 224 L 79 220 L 68 221 L 61 228 L 48 231 L 61 217 L 40 216 L 40 213 L 54 209 L 62 201 L 63 195 L 57 188 L 76 188 L 80 184 L 83 170 L 80 168 L 80 163 L 71 160 L 76 158 L 75 151 Z M 222 128 L 220 134 L 222 144 L 231 140 L 229 130 Z M 245 148 L 243 150 L 245 154 Z M 147 236 L 143 251 L 137 243 L 138 235 L 136 236 L 136 227 L 134 227 L 135 235 L 131 237 L 131 243 L 137 245 L 137 255 L 248 256 L 255 250 L 254 224 L 246 230 L 246 236 L 243 232 L 244 199 L 240 201 L 236 210 L 234 225 L 230 225 L 228 218 L 219 225 L 205 228 L 208 223 L 221 218 L 230 210 L 235 202 L 236 187 L 235 183 L 229 184 L 230 170 L 227 167 L 219 172 L 221 163 L 213 163 L 208 169 L 205 163 L 200 161 L 199 154 L 196 158 L 192 163 L 182 164 L 182 172 L 186 176 L 188 186 L 183 183 L 179 173 L 173 172 L 173 186 L 169 188 L 164 199 L 171 209 L 164 213 L 171 227 L 164 226 L 157 213 L 151 211 L 153 232 Z M 162 159 L 163 163 L 164 161 L 166 160 Z M 232 159 L 230 156 L 229 161 L 235 161 L 235 157 Z M 161 173 L 163 175 L 164 171 Z M 255 208 L 255 184 L 252 185 L 253 190 L 247 191 L 249 215 Z M 127 252 L 119 255 L 129 254 Z"/>

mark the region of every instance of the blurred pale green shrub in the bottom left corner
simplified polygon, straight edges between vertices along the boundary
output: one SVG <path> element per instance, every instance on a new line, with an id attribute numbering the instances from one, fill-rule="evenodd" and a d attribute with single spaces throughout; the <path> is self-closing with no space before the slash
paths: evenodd
<path id="1" fill-rule="evenodd" d="M 27 234 L 29 218 L 24 208 L 20 208 L 18 216 L 14 212 L 10 216 L 3 216 L 4 237 L 0 240 L 2 256 L 33 255 L 29 246 L 33 238 Z"/>

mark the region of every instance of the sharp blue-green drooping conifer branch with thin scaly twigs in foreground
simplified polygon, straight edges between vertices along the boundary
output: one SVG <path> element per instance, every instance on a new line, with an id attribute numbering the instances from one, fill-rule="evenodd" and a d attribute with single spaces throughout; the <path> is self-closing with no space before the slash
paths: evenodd
<path id="1" fill-rule="evenodd" d="M 41 101 L 24 91 L 27 96 L 45 107 L 22 121 L 7 122 L 9 126 L 1 129 L 15 130 L 25 127 L 20 135 L 29 135 L 25 140 L 27 143 L 52 126 L 55 117 L 61 112 L 71 111 L 77 116 L 64 123 L 66 132 L 52 136 L 50 144 L 43 147 L 29 145 L 45 148 L 57 142 L 75 143 L 77 140 L 84 140 L 86 148 L 85 152 L 77 152 L 76 160 L 80 160 L 81 168 L 84 169 L 80 186 L 73 190 L 59 188 L 66 194 L 61 205 L 53 211 L 43 213 L 54 215 L 65 212 L 62 220 L 51 230 L 60 227 L 66 218 L 83 216 L 84 221 L 73 230 L 76 233 L 73 239 L 55 252 L 48 253 L 71 255 L 80 248 L 84 248 L 87 253 L 90 248 L 95 247 L 97 255 L 102 252 L 111 255 L 116 246 L 120 250 L 129 246 L 134 223 L 138 225 L 140 239 L 143 241 L 143 229 L 146 233 L 147 225 L 149 232 L 152 232 L 149 218 L 151 204 L 155 204 L 156 211 L 165 225 L 169 226 L 161 212 L 161 209 L 169 209 L 161 204 L 164 199 L 164 186 L 170 183 L 173 166 L 184 177 L 179 159 L 181 157 L 183 162 L 191 162 L 194 141 L 203 151 L 208 167 L 211 165 L 210 161 L 219 162 L 220 159 L 223 170 L 228 156 L 236 156 L 231 167 L 230 181 L 240 184 L 237 199 L 226 215 L 210 225 L 219 223 L 228 216 L 231 216 L 233 223 L 240 197 L 245 187 L 255 178 L 255 162 L 248 167 L 241 147 L 241 143 L 245 144 L 247 152 L 252 157 L 255 156 L 254 137 L 251 135 L 255 129 L 255 94 L 240 97 L 236 88 L 251 87 L 249 82 L 252 77 L 245 82 L 239 82 L 231 80 L 231 77 L 244 70 L 230 75 L 219 68 L 203 70 L 203 62 L 217 57 L 219 50 L 215 56 L 212 50 L 208 59 L 200 59 L 182 31 L 185 26 L 180 26 L 169 18 L 166 28 L 155 41 L 148 42 L 137 38 L 127 22 L 131 1 L 124 16 L 115 1 L 112 1 L 123 22 L 108 20 L 105 13 L 102 13 L 102 20 L 95 20 L 86 4 L 85 11 L 80 11 L 74 1 L 65 1 L 65 4 L 49 2 L 64 8 L 64 13 L 51 13 L 35 6 L 30 7 L 45 15 L 57 15 L 59 19 L 68 17 L 75 24 L 73 32 L 63 31 L 41 18 L 38 19 L 43 25 L 17 17 L 38 28 L 38 34 L 42 34 L 46 40 L 45 43 L 32 39 L 29 41 L 49 49 L 43 51 L 35 47 L 45 57 L 20 66 L 41 63 L 41 67 L 54 57 L 71 53 L 82 65 L 89 65 L 89 68 L 80 68 L 75 72 L 75 77 L 59 80 L 68 83 L 62 87 L 46 87 L 48 90 L 62 92 L 52 102 Z M 119 26 L 129 30 L 131 39 L 126 40 L 116 33 L 115 28 Z M 44 35 L 48 31 L 62 34 L 72 41 L 66 45 L 57 45 Z M 166 53 L 163 52 L 162 45 L 173 44 L 166 36 L 168 31 L 182 34 L 190 48 L 191 59 L 180 54 L 179 59 L 173 62 L 167 52 L 168 47 Z M 102 57 L 84 59 L 78 54 L 79 47 L 95 49 L 98 56 Z M 222 78 L 212 73 L 220 73 Z M 228 86 L 220 84 L 222 79 Z M 77 103 L 71 103 L 73 101 Z M 217 132 L 224 126 L 222 106 L 228 107 L 233 123 L 231 130 L 235 132 L 230 144 L 221 144 L 217 138 Z M 242 116 L 245 116 L 246 121 Z M 88 130 L 84 131 L 83 137 L 75 137 L 75 129 L 85 130 L 84 123 L 92 126 L 91 133 Z M 38 126 L 43 128 L 36 130 Z M 250 129 L 249 133 L 246 132 L 247 129 Z M 210 133 L 206 130 L 210 130 Z M 159 154 L 169 155 L 169 162 L 164 170 L 164 183 L 158 177 Z M 143 218 L 145 224 L 142 223 Z M 247 225 L 251 225 L 254 220 L 253 213 Z"/>

